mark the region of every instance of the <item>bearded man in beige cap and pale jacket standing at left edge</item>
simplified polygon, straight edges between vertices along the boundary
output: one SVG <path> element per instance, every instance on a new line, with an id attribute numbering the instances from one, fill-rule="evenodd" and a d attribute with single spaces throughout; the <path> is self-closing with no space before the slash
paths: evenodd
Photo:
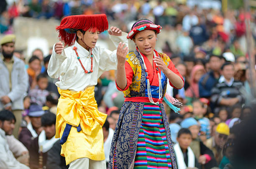
<path id="1" fill-rule="evenodd" d="M 13 135 L 18 138 L 22 119 L 23 96 L 28 88 L 28 74 L 22 60 L 13 56 L 15 35 L 6 35 L 1 41 L 0 109 L 12 110 L 16 119 Z"/>

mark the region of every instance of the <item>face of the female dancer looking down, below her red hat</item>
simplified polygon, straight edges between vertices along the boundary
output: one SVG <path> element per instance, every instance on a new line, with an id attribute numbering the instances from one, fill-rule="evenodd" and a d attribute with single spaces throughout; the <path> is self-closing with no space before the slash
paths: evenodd
<path id="1" fill-rule="evenodd" d="M 148 56 L 154 55 L 156 46 L 156 33 L 154 30 L 143 30 L 136 33 L 133 41 L 136 43 L 141 53 Z"/>

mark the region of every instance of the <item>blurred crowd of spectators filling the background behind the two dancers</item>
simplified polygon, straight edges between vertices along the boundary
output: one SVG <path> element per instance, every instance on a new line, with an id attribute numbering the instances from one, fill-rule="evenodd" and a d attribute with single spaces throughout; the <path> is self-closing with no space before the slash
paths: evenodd
<path id="1" fill-rule="evenodd" d="M 178 166 L 189 166 L 191 154 L 194 154 L 193 167 L 199 169 L 255 167 L 252 159 L 255 157 L 253 154 L 256 154 L 253 145 L 256 141 L 253 130 L 253 121 L 256 120 L 253 106 L 256 101 L 252 79 L 256 78 L 256 71 L 255 67 L 250 69 L 245 20 L 250 21 L 251 50 L 252 57 L 255 57 L 256 13 L 252 10 L 248 14 L 243 8 L 221 11 L 218 5 L 216 8 L 202 8 L 188 2 L 1 0 L 0 32 L 15 34 L 12 23 L 19 16 L 60 20 L 68 15 L 105 13 L 109 22 L 115 23 L 124 32 L 129 32 L 131 23 L 138 18 L 152 20 L 162 26 L 157 36 L 156 50 L 169 55 L 185 80 L 181 90 L 171 86 L 167 86 L 166 90 L 183 103 L 179 114 L 164 104 Z M 18 74 L 24 68 L 21 73 L 24 77 L 21 79 L 23 87 L 19 86 L 21 84 L 0 82 L 0 108 L 6 109 L 0 112 L 0 137 L 5 139 L 5 135 L 8 135 L 5 139 L 7 142 L 2 143 L 6 146 L 0 147 L 0 154 L 5 149 L 12 158 L 31 169 L 44 166 L 47 169 L 68 168 L 64 157 L 60 156 L 59 140 L 54 139 L 59 93 L 54 84 L 58 79 L 52 79 L 47 74 L 51 51 L 43 55 L 42 50 L 37 48 L 29 56 L 28 62 L 24 62 L 23 51 L 15 50 L 14 46 L 10 49 L 1 41 L 0 70 L 1 66 L 8 65 L 2 57 L 8 51 L 13 52 L 15 58 L 23 60 L 19 65 L 21 67 L 15 71 Z M 2 81 L 5 76 L 10 76 L 10 73 L 1 71 Z M 10 92 L 15 86 L 19 86 L 20 91 L 12 93 L 16 96 L 8 95 L 6 98 L 3 94 L 5 88 L 9 88 L 6 90 Z M 107 164 L 115 125 L 124 102 L 123 96 L 115 87 L 115 71 L 103 73 L 95 86 L 95 99 L 99 110 L 108 114 L 103 126 Z M 22 100 L 22 104 L 15 104 L 17 100 Z M 22 114 L 20 120 L 15 114 L 17 110 Z M 10 121 L 10 124 L 6 124 L 6 121 Z M 14 128 L 17 128 L 17 132 Z M 182 152 L 178 151 L 177 146 Z M 0 166 L 4 160 L 0 155 Z M 10 165 L 18 165 L 19 162 Z"/>

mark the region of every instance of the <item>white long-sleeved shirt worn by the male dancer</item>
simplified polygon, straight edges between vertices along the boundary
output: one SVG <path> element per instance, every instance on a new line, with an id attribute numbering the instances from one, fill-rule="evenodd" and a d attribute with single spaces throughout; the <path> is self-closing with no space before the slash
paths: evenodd
<path id="1" fill-rule="evenodd" d="M 114 45 L 118 47 L 120 41 L 128 46 L 127 33 L 122 33 L 121 36 L 110 35 L 110 39 Z M 55 46 L 55 44 L 54 44 Z M 84 69 L 77 59 L 77 55 L 73 47 L 77 47 L 77 53 L 80 57 L 84 68 L 89 72 L 91 69 L 91 53 L 83 48 L 77 41 L 74 45 L 65 48 L 61 54 L 55 53 L 54 47 L 51 59 L 48 65 L 48 74 L 51 78 L 59 78 L 56 82 L 61 90 L 83 91 L 89 86 L 97 85 L 97 79 L 103 72 L 117 69 L 116 50 L 111 51 L 99 46 L 92 49 L 93 67 L 92 73 L 84 73 Z"/>

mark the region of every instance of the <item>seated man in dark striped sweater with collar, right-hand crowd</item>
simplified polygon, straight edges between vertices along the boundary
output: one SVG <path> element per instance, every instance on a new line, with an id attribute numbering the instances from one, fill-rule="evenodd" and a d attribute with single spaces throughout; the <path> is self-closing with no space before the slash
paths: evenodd
<path id="1" fill-rule="evenodd" d="M 234 80 L 234 73 L 234 66 L 230 62 L 224 63 L 221 67 L 222 75 L 211 91 L 211 100 L 216 105 L 215 112 L 218 112 L 221 106 L 233 106 L 244 102 L 240 91 L 243 83 Z"/>

